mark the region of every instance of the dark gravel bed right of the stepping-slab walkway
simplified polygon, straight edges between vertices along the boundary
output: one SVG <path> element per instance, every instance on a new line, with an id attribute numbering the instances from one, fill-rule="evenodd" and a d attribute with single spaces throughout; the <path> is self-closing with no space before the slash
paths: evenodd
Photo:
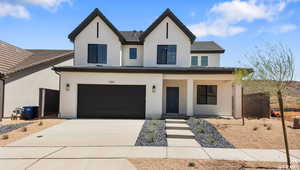
<path id="1" fill-rule="evenodd" d="M 208 121 L 203 119 L 190 118 L 187 120 L 192 132 L 195 134 L 196 141 L 207 148 L 234 148 L 218 130 Z"/>

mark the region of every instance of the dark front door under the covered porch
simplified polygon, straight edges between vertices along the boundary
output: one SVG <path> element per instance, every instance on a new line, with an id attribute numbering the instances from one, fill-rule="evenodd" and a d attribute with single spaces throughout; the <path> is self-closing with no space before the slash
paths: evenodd
<path id="1" fill-rule="evenodd" d="M 179 87 L 167 87 L 167 113 L 179 112 Z"/>

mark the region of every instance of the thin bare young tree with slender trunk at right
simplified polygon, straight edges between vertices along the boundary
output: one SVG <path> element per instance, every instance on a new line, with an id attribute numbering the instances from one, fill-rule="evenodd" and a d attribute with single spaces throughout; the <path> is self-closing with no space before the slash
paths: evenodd
<path id="1" fill-rule="evenodd" d="M 239 80 L 250 91 L 255 89 L 260 92 L 268 92 L 276 95 L 280 108 L 284 143 L 287 156 L 287 164 L 290 168 L 290 156 L 288 138 L 284 120 L 283 98 L 287 87 L 293 82 L 295 65 L 294 57 L 290 48 L 281 44 L 265 44 L 263 47 L 256 47 L 254 52 L 247 56 L 248 66 L 253 69 L 250 74 L 238 71 Z M 238 77 L 238 76 L 237 76 Z"/>

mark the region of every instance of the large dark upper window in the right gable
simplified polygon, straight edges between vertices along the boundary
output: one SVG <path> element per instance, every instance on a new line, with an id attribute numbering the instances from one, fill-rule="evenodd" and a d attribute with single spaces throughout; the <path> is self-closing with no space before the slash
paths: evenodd
<path id="1" fill-rule="evenodd" d="M 176 64 L 176 45 L 158 45 L 157 64 Z"/>

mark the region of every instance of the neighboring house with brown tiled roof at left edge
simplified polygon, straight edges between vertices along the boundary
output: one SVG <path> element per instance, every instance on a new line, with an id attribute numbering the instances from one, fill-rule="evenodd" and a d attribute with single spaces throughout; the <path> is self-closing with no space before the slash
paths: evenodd
<path id="1" fill-rule="evenodd" d="M 39 88 L 59 89 L 53 66 L 73 65 L 72 50 L 25 50 L 0 41 L 0 117 L 16 107 L 38 106 Z"/>

